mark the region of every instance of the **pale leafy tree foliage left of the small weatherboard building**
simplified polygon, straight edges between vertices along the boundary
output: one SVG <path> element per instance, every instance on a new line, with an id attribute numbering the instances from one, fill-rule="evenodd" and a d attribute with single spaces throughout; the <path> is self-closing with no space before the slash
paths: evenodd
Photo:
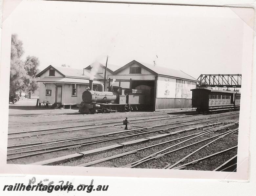
<path id="1" fill-rule="evenodd" d="M 10 94 L 16 91 L 35 92 L 38 89 L 35 75 L 39 72 L 39 60 L 37 57 L 28 56 L 21 60 L 24 53 L 22 41 L 17 35 L 11 36 L 11 67 L 10 67 Z"/>

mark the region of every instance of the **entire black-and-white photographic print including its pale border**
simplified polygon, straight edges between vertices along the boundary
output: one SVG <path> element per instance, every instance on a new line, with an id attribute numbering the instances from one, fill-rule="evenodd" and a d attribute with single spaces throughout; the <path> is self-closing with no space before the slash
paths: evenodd
<path id="1" fill-rule="evenodd" d="M 3 25 L 5 167 L 247 179 L 253 17 L 21 1 Z"/>

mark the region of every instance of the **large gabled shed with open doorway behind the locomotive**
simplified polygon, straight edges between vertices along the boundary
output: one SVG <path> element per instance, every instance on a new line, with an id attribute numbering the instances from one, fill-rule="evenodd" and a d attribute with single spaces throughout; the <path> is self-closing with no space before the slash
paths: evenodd
<path id="1" fill-rule="evenodd" d="M 191 89 L 196 88 L 197 79 L 165 67 L 140 63 L 136 60 L 108 74 L 108 86 L 133 89 L 136 94 L 143 91 L 152 110 L 191 107 Z"/>

